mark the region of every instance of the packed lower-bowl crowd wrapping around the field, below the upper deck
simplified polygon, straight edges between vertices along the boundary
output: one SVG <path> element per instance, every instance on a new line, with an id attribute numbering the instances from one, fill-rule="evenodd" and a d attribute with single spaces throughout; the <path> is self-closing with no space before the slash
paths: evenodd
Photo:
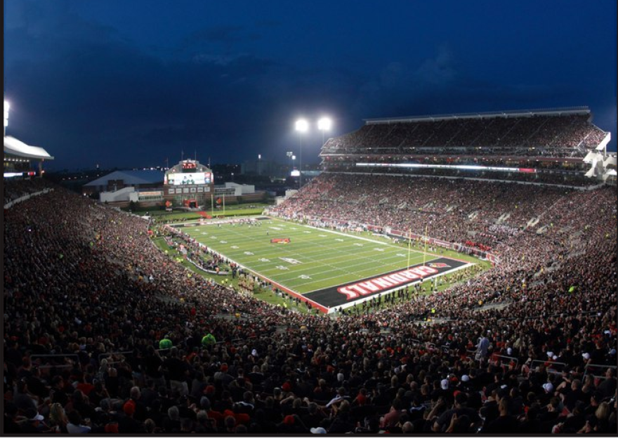
<path id="1" fill-rule="evenodd" d="M 193 275 L 147 221 L 56 187 L 5 211 L 4 433 L 615 433 L 616 201 L 323 174 L 278 213 L 429 222 L 500 258 L 331 318 Z"/>

